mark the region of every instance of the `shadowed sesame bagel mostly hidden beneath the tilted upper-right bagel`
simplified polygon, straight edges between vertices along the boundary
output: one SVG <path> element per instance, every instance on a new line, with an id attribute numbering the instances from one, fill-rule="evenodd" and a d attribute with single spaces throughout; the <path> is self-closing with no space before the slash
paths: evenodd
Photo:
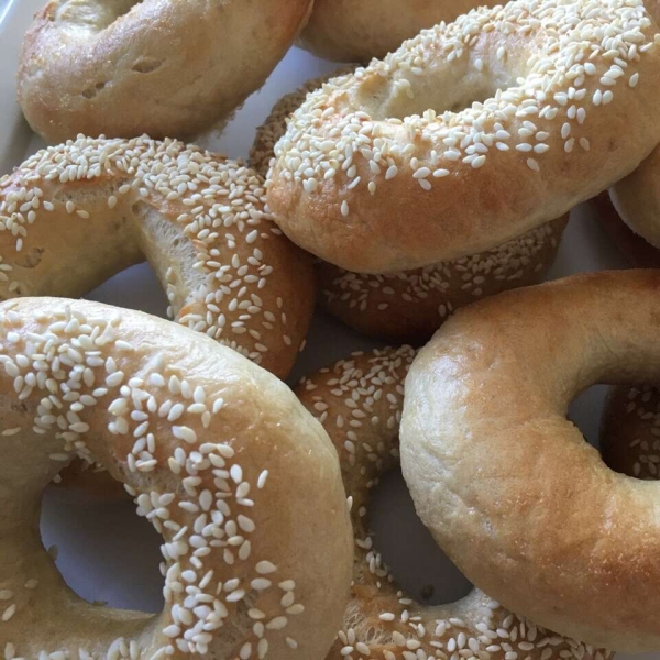
<path id="1" fill-rule="evenodd" d="M 352 70 L 352 69 L 351 69 Z M 256 132 L 250 165 L 264 177 L 287 118 L 328 77 L 283 97 Z M 322 307 L 355 330 L 398 343 L 424 343 L 455 309 L 514 286 L 540 282 L 554 261 L 568 215 L 483 254 L 414 271 L 367 275 L 317 263 Z"/>

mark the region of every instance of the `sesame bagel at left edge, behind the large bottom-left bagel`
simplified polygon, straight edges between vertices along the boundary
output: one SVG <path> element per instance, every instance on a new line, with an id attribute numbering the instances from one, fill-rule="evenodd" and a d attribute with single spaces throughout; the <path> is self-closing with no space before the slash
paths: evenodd
<path id="1" fill-rule="evenodd" d="M 145 257 L 173 318 L 288 374 L 314 311 L 311 260 L 250 168 L 173 140 L 80 136 L 0 180 L 0 300 L 78 297 Z"/>

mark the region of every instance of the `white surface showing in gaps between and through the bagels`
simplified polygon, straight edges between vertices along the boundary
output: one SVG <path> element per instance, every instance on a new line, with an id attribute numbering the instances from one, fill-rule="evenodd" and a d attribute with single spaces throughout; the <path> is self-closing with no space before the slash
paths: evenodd
<path id="1" fill-rule="evenodd" d="M 4 16 L 0 24 L 0 174 L 9 172 L 41 146 L 15 103 L 14 75 L 23 32 L 43 2 L 0 0 L 0 20 Z M 293 50 L 264 89 L 249 99 L 224 135 L 211 136 L 205 140 L 205 145 L 233 157 L 246 156 L 254 130 L 273 103 L 304 80 L 332 68 L 334 65 L 330 63 Z M 620 257 L 600 232 L 591 208 L 574 211 L 551 277 L 620 266 Z M 146 265 L 122 273 L 90 297 L 160 316 L 164 316 L 166 308 L 160 285 Z M 338 321 L 318 315 L 292 382 L 350 351 L 375 345 Z M 602 395 L 603 388 L 595 387 L 571 409 L 572 418 L 591 440 L 597 431 Z M 371 515 L 385 560 L 414 597 L 424 602 L 421 590 L 429 584 L 433 585 L 431 602 L 436 603 L 448 603 L 466 593 L 469 583 L 443 558 L 415 517 L 400 475 L 384 480 Z M 132 505 L 98 505 L 50 493 L 44 503 L 42 531 L 46 546 L 59 547 L 57 565 L 81 596 L 107 601 L 116 607 L 152 612 L 160 608 L 158 537 L 146 521 L 134 515 Z M 660 660 L 660 653 L 648 657 Z"/>

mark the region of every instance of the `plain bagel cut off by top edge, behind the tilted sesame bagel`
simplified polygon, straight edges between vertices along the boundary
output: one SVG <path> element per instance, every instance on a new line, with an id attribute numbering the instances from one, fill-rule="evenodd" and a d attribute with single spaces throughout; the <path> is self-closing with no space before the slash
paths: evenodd
<path id="1" fill-rule="evenodd" d="M 424 28 L 453 21 L 481 7 L 479 0 L 315 0 L 298 45 L 337 62 L 369 62 L 384 57 Z"/>

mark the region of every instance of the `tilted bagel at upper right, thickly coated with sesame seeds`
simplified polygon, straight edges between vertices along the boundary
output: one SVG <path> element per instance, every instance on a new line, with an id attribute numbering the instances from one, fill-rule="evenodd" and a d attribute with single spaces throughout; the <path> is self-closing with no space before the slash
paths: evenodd
<path id="1" fill-rule="evenodd" d="M 349 271 L 502 245 L 656 146 L 657 33 L 642 0 L 521 0 L 422 31 L 308 96 L 275 147 L 268 206 Z"/>

